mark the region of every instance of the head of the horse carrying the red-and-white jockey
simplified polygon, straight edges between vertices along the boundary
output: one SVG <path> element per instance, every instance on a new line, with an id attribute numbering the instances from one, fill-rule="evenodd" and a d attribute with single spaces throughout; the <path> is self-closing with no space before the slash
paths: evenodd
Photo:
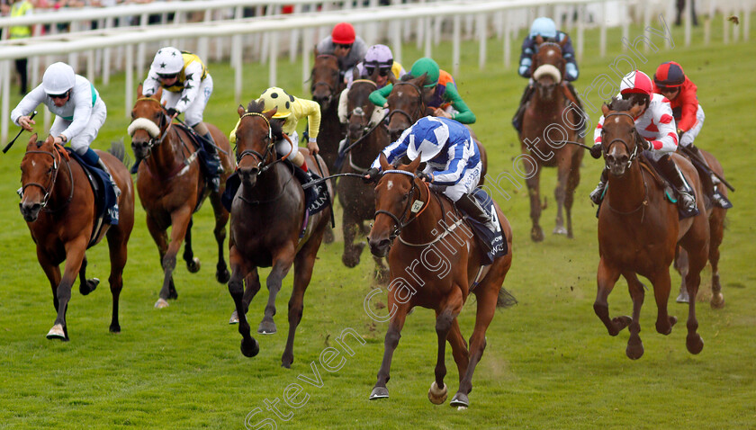
<path id="1" fill-rule="evenodd" d="M 604 125 L 601 127 L 601 146 L 607 168 L 612 175 L 625 175 L 638 156 L 641 137 L 635 130 L 635 118 L 643 110 L 642 105 L 630 100 L 614 98 L 601 106 Z"/>

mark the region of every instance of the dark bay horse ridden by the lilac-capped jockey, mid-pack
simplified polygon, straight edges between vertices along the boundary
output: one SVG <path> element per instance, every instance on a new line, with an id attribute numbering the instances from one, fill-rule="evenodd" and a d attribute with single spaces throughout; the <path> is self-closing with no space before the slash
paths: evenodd
<path id="1" fill-rule="evenodd" d="M 347 155 L 347 163 L 342 172 L 365 175 L 378 157 L 378 153 L 389 146 L 389 131 L 385 123 L 372 124 L 377 108 L 368 98 L 376 89 L 376 84 L 370 79 L 356 79 L 347 94 L 347 142 L 356 142 L 357 146 Z M 369 134 L 367 134 L 369 133 Z M 371 184 L 363 181 L 340 180 L 337 184 L 338 201 L 341 202 L 341 228 L 344 234 L 344 253 L 341 261 L 347 267 L 355 267 L 360 263 L 360 255 L 365 242 L 355 245 L 357 234 L 363 234 L 365 220 L 373 219 L 375 213 L 374 191 Z M 375 260 L 375 278 L 385 282 L 388 269 L 383 264 L 383 258 L 373 257 Z"/>

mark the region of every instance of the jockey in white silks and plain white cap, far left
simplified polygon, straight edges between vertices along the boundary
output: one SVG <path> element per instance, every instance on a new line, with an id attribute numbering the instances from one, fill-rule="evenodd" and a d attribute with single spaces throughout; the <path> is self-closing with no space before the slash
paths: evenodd
<path id="1" fill-rule="evenodd" d="M 55 136 L 54 143 L 65 145 L 71 142 L 71 148 L 87 165 L 102 169 L 110 177 L 118 200 L 121 190 L 113 181 L 110 170 L 100 156 L 89 148 L 108 116 L 105 103 L 94 85 L 84 76 L 76 75 L 73 67 L 66 63 L 53 63 L 45 70 L 42 83 L 26 94 L 11 112 L 11 120 L 23 130 L 31 131 L 36 121 L 31 120 L 28 112 L 32 112 L 40 103 L 44 103 L 56 115 L 49 129 L 50 136 Z M 110 216 L 118 219 L 117 203 Z"/>

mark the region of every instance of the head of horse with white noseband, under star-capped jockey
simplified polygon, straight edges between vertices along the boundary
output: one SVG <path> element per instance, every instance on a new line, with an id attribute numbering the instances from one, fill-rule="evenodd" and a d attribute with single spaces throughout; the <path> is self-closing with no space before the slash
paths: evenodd
<path id="1" fill-rule="evenodd" d="M 161 94 L 162 88 L 158 89 L 156 94 L 145 97 L 142 94 L 142 85 L 139 84 L 137 88 L 137 103 L 131 109 L 131 123 L 128 129 L 131 149 L 137 159 L 149 157 L 150 149 L 159 145 L 165 137 L 170 120 L 160 104 Z"/>

